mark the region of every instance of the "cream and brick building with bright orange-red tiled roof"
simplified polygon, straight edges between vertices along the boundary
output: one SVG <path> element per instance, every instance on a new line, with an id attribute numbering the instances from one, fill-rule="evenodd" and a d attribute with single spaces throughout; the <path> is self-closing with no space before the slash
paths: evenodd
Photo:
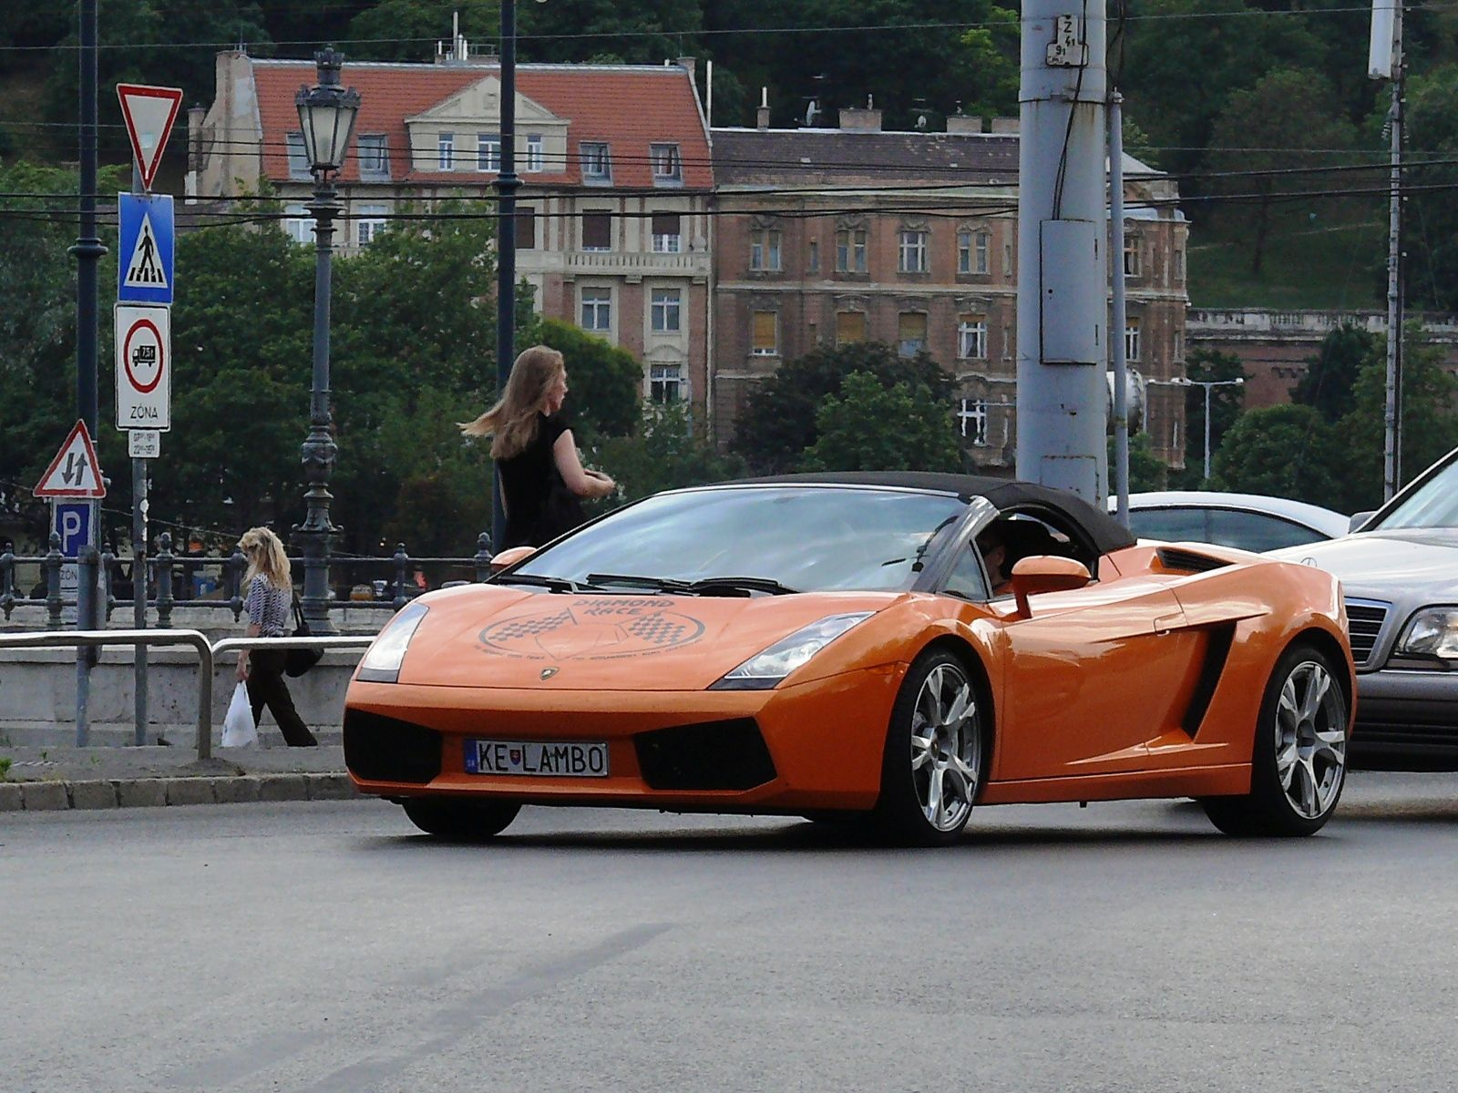
<path id="1" fill-rule="evenodd" d="M 360 92 L 337 245 L 370 238 L 402 203 L 494 200 L 500 68 L 464 41 L 434 64 L 347 63 Z M 190 197 L 257 191 L 283 198 L 287 230 L 312 243 L 312 194 L 295 92 L 305 61 L 217 57 L 211 108 L 190 117 Z M 709 130 L 694 64 L 516 67 L 516 268 L 538 309 L 643 361 L 643 393 L 709 391 Z M 491 205 L 483 204 L 483 208 Z"/>

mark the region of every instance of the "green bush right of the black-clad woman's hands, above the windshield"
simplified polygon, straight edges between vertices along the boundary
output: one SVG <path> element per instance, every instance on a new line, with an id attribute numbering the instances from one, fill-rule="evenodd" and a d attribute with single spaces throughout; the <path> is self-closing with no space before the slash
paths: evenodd
<path id="1" fill-rule="evenodd" d="M 646 404 L 634 436 L 602 442 L 601 462 L 628 501 L 744 474 L 744 463 L 720 455 L 682 402 Z"/>

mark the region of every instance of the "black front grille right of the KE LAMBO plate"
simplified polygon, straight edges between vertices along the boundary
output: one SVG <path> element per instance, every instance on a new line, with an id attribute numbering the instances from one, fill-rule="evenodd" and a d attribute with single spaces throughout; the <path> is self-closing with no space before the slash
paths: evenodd
<path id="1" fill-rule="evenodd" d="M 754 718 L 655 729 L 633 737 L 653 790 L 748 790 L 774 778 L 774 759 Z"/>

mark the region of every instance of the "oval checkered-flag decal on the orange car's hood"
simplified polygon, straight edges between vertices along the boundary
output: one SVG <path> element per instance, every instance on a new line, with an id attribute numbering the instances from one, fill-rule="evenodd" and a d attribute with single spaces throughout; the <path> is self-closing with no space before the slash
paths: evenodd
<path id="1" fill-rule="evenodd" d="M 541 606 L 497 619 L 477 634 L 483 653 L 528 660 L 617 660 L 678 649 L 697 641 L 704 624 L 669 611 L 652 596 L 576 599 L 570 606 Z M 555 675 L 555 673 L 553 673 Z"/>

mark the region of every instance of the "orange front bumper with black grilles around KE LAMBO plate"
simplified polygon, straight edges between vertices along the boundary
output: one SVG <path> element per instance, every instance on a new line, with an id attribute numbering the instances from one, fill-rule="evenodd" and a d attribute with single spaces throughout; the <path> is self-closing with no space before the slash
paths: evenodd
<path id="1" fill-rule="evenodd" d="M 350 685 L 344 759 L 382 797 L 491 796 L 684 812 L 869 809 L 904 665 L 774 691 Z M 604 740 L 609 775 L 481 775 L 468 737 Z"/>

